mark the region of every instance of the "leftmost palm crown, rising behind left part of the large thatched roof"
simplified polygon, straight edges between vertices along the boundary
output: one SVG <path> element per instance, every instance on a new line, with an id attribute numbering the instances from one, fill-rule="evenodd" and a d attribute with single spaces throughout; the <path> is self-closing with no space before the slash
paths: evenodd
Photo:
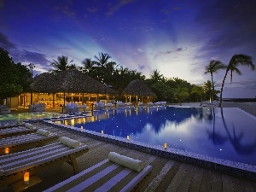
<path id="1" fill-rule="evenodd" d="M 70 68 L 76 68 L 75 64 L 73 64 L 72 61 L 68 61 L 67 56 L 58 56 L 57 61 L 53 61 L 50 63 L 53 67 L 55 67 L 55 70 L 52 70 L 52 72 L 61 72 L 61 71 L 67 71 L 67 69 Z"/>

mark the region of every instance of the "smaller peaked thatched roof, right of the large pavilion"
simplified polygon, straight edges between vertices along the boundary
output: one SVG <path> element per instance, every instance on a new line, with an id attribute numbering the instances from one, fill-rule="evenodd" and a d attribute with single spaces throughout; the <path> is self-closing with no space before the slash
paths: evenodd
<path id="1" fill-rule="evenodd" d="M 130 84 L 123 90 L 123 96 L 154 96 L 154 92 L 144 83 L 143 80 L 133 80 Z"/>

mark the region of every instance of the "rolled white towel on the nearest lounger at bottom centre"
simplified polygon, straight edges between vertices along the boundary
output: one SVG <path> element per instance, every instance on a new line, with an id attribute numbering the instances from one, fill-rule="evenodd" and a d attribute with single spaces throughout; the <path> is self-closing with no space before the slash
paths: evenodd
<path id="1" fill-rule="evenodd" d="M 136 172 L 141 172 L 144 168 L 142 160 L 134 160 L 131 157 L 117 154 L 115 152 L 110 152 L 108 154 L 108 160 L 111 160 L 121 166 L 126 166 Z"/>

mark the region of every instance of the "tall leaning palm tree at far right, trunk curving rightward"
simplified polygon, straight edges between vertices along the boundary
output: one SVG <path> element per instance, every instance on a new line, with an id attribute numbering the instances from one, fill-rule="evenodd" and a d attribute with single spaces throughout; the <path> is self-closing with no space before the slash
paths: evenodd
<path id="1" fill-rule="evenodd" d="M 222 85 L 221 85 L 221 90 L 220 90 L 220 100 L 219 100 L 219 105 L 218 107 L 221 107 L 221 103 L 222 103 L 222 93 L 223 93 L 223 87 L 224 87 L 224 82 L 225 79 L 227 77 L 227 74 L 229 73 L 229 71 L 231 71 L 230 73 L 230 79 L 232 83 L 232 77 L 233 77 L 233 72 L 236 72 L 238 75 L 241 75 L 241 71 L 237 68 L 239 66 L 239 64 L 241 66 L 247 66 L 247 67 L 251 67 L 252 70 L 254 70 L 254 65 L 253 65 L 253 61 L 252 58 L 248 55 L 233 55 L 229 65 L 226 67 L 226 73 L 224 75 L 224 79 L 222 81 Z"/>

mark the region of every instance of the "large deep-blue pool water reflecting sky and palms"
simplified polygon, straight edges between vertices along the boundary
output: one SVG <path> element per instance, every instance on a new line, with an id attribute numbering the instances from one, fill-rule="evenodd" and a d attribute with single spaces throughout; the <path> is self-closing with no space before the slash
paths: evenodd
<path id="1" fill-rule="evenodd" d="M 57 122 L 256 166 L 256 118 L 239 108 L 126 108 Z"/>

